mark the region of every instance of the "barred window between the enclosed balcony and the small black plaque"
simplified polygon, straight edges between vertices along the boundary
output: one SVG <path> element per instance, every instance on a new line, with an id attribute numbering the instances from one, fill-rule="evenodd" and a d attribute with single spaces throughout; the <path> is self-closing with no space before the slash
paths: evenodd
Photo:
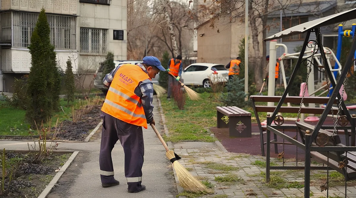
<path id="1" fill-rule="evenodd" d="M 106 53 L 107 29 L 80 28 L 80 52 Z"/>

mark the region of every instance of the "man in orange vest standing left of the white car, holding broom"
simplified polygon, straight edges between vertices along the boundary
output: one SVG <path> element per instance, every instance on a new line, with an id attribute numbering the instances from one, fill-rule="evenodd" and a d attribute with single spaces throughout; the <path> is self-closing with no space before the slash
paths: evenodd
<path id="1" fill-rule="evenodd" d="M 168 92 L 167 99 L 171 99 L 172 95 L 172 87 L 179 85 L 178 81 L 180 79 L 180 75 L 182 74 L 183 64 L 182 64 L 182 56 L 178 55 L 175 59 L 171 59 L 168 61 Z M 172 75 L 174 76 L 172 76 Z"/>

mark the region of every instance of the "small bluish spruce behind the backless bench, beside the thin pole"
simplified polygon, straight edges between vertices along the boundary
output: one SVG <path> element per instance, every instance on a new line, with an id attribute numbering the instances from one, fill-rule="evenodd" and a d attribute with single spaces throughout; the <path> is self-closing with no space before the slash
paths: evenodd
<path id="1" fill-rule="evenodd" d="M 246 106 L 244 89 L 244 79 L 234 76 L 234 78 L 227 82 L 227 93 L 221 95 L 220 101 L 224 106 L 237 106 L 242 108 Z"/>

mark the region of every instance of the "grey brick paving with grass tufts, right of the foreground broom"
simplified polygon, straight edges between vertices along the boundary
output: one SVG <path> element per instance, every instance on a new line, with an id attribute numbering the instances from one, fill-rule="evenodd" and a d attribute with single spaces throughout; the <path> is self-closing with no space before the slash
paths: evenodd
<path id="1" fill-rule="evenodd" d="M 259 149 L 259 147 L 256 149 Z M 272 170 L 271 180 L 274 180 L 275 183 L 266 185 L 264 181 L 266 168 L 260 167 L 261 165 L 266 165 L 265 157 L 224 153 L 215 143 L 203 142 L 177 143 L 174 144 L 174 151 L 182 157 L 180 163 L 186 167 L 193 176 L 196 176 L 202 181 L 208 181 L 214 186 L 215 194 L 212 197 L 219 197 L 219 195 L 221 198 L 304 197 L 304 188 L 300 188 L 303 187 L 300 185 L 304 184 L 304 170 Z M 280 159 L 272 159 L 272 163 L 281 166 L 283 161 Z M 296 163 L 293 160 L 286 160 L 284 165 L 295 166 Z M 316 165 L 322 166 L 321 164 L 313 162 L 313 166 Z M 304 166 L 304 164 L 298 162 L 298 166 Z M 336 171 L 330 171 L 329 174 L 335 173 Z M 312 176 L 312 185 L 310 187 L 311 197 L 326 198 L 326 191 L 320 191 L 321 183 L 325 183 L 326 170 L 312 171 L 312 175 L 314 176 Z M 337 178 L 343 177 L 342 175 L 336 176 Z M 331 183 L 335 182 L 336 176 L 331 176 L 334 177 L 334 179 L 330 178 Z M 236 180 L 236 182 L 224 182 L 224 180 L 229 178 Z M 341 185 L 345 184 L 345 182 L 342 181 L 338 182 Z M 278 185 L 284 187 L 278 189 Z M 330 187 L 329 197 L 345 197 L 345 187 Z M 351 183 L 351 185 L 348 184 L 347 197 L 356 197 L 355 182 Z"/>

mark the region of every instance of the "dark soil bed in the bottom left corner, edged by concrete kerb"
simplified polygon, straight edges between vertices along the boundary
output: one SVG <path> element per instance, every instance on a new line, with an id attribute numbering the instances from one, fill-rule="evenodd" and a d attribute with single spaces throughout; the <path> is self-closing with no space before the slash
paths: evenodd
<path id="1" fill-rule="evenodd" d="M 43 189 L 46 188 L 49 182 L 51 182 L 54 175 L 68 160 L 71 153 L 68 154 L 56 154 L 52 153 L 41 161 L 36 159 L 35 153 L 14 153 L 6 152 L 7 159 L 9 161 L 21 158 L 20 166 L 17 169 L 15 177 L 12 178 L 9 185 L 9 179 L 4 182 L 6 194 L 0 192 L 0 197 L 6 198 L 36 198 Z M 37 164 L 34 164 L 37 163 Z M 2 172 L 2 171 L 1 171 Z M 2 174 L 0 175 L 2 178 Z M 6 178 L 6 177 L 5 177 Z M 1 179 L 2 181 L 2 179 Z M 0 181 L 0 183 L 1 183 Z"/>

